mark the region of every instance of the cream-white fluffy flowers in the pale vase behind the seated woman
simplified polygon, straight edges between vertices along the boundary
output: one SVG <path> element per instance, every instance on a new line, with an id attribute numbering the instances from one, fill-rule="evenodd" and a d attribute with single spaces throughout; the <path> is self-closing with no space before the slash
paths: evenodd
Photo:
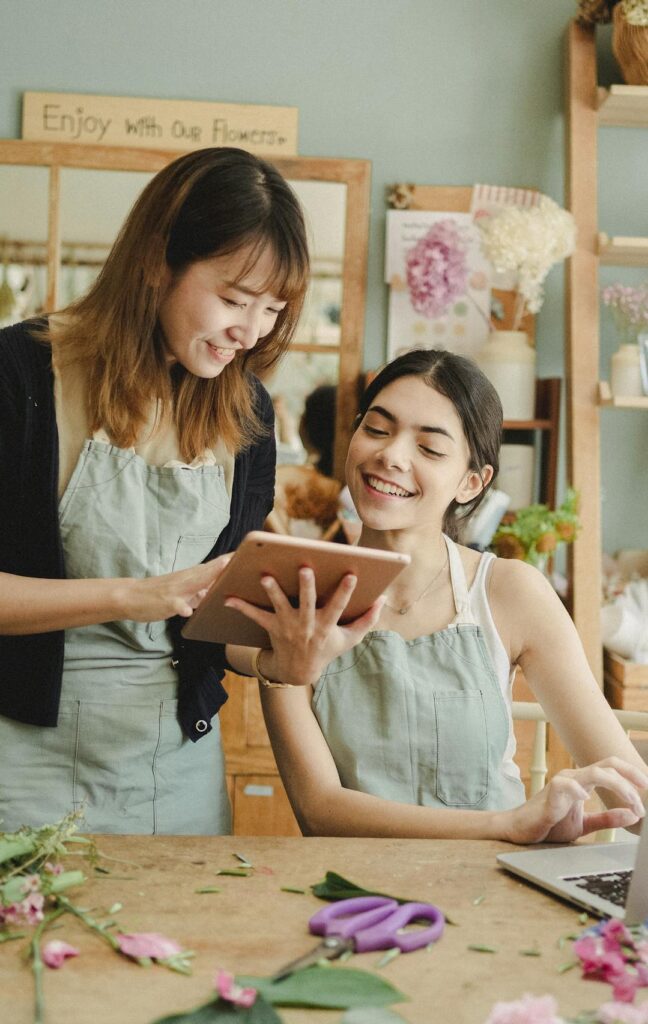
<path id="1" fill-rule="evenodd" d="M 543 284 L 552 266 L 573 252 L 574 219 L 548 196 L 541 196 L 535 206 L 506 207 L 477 223 L 482 251 L 493 269 L 516 276 L 513 329 L 518 330 L 525 311 L 536 313 L 541 309 Z"/>

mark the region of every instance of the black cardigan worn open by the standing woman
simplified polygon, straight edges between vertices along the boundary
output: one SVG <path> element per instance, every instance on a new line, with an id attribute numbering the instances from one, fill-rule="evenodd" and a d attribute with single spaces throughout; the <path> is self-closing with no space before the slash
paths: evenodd
<path id="1" fill-rule="evenodd" d="M 58 531 L 58 433 L 51 350 L 27 322 L 0 331 L 0 571 L 64 579 Z M 268 435 L 236 456 L 229 523 L 205 559 L 233 551 L 270 511 L 274 493 L 273 411 L 252 378 Z M 224 647 L 184 640 L 184 620 L 169 620 L 178 671 L 178 719 L 190 739 L 211 729 L 227 699 L 221 679 Z M 63 668 L 62 630 L 0 635 L 0 714 L 30 725 L 55 726 Z"/>

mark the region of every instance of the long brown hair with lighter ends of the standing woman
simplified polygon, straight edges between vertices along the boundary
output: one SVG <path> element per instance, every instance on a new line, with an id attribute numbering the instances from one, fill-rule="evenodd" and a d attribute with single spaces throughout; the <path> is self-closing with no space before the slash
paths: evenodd
<path id="1" fill-rule="evenodd" d="M 170 373 L 158 318 L 166 269 L 176 276 L 199 260 L 246 250 L 245 276 L 267 247 L 273 265 L 264 290 L 287 302 L 272 331 L 216 378 L 178 365 Z M 264 376 L 286 351 L 308 273 L 299 202 L 271 164 L 227 146 L 173 161 L 143 189 L 95 283 L 55 329 L 61 361 L 87 370 L 91 429 L 129 447 L 160 399 L 163 412 L 173 410 L 183 458 L 218 438 L 233 453 L 249 445 L 263 433 L 251 375 Z"/>

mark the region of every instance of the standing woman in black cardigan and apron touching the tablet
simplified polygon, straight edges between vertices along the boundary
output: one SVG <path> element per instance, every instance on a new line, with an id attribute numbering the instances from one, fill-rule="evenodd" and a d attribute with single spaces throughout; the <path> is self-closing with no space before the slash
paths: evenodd
<path id="1" fill-rule="evenodd" d="M 222 648 L 180 628 L 272 506 L 259 382 L 309 265 L 280 174 L 164 168 L 87 295 L 0 332 L 0 820 L 229 829 Z M 188 740 L 200 740 L 189 742 Z"/>

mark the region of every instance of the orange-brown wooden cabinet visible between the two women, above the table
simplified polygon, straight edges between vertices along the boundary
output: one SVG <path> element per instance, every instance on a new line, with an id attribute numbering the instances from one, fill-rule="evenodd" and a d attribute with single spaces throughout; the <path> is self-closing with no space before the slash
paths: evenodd
<path id="1" fill-rule="evenodd" d="M 227 673 L 220 711 L 234 836 L 300 836 L 263 721 L 256 679 Z"/>

